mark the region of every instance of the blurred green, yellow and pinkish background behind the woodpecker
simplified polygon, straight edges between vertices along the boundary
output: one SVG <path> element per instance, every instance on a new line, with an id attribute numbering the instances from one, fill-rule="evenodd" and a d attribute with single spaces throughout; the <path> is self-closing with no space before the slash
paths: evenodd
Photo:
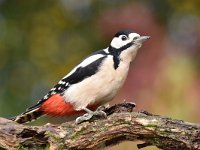
<path id="1" fill-rule="evenodd" d="M 151 39 L 111 104 L 126 99 L 136 111 L 199 123 L 199 7 L 199 0 L 0 0 L 0 116 L 35 104 L 74 65 L 128 28 Z M 125 148 L 136 146 L 108 149 Z"/>

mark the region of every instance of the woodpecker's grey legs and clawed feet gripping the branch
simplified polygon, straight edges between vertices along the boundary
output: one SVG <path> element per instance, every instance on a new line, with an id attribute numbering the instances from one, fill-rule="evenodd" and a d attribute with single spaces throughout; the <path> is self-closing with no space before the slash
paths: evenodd
<path id="1" fill-rule="evenodd" d="M 93 116 L 100 116 L 100 117 L 103 117 L 103 118 L 106 118 L 107 115 L 106 113 L 103 111 L 103 108 L 102 106 L 98 107 L 96 109 L 96 111 L 91 111 L 90 109 L 88 108 L 82 108 L 82 110 L 86 111 L 87 113 L 84 114 L 83 116 L 80 116 L 78 118 L 76 118 L 76 124 L 79 124 L 79 123 L 82 123 L 84 121 L 88 121 L 90 120 Z"/>

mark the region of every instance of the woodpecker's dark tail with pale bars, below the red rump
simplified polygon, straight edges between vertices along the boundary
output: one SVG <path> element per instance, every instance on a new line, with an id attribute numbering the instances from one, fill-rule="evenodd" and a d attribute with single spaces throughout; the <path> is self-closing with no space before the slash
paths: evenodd
<path id="1" fill-rule="evenodd" d="M 44 113 L 41 110 L 39 110 L 39 107 L 36 106 L 36 107 L 31 107 L 31 109 L 29 108 L 24 113 L 10 119 L 17 123 L 22 124 L 22 123 L 36 120 L 42 115 L 44 115 Z"/>

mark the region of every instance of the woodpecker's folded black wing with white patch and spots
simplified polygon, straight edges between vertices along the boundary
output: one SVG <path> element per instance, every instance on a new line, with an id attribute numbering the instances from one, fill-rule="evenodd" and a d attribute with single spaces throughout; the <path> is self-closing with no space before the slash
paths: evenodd
<path id="1" fill-rule="evenodd" d="M 106 55 L 95 53 L 84 59 L 80 64 L 78 64 L 71 72 L 69 72 L 62 80 L 58 82 L 35 106 L 32 106 L 27 109 L 27 111 L 33 110 L 39 107 L 44 101 L 48 100 L 52 95 L 63 94 L 71 85 L 83 81 L 85 78 L 88 78 L 94 75 L 99 66 L 102 64 L 103 60 L 106 58 Z"/>

